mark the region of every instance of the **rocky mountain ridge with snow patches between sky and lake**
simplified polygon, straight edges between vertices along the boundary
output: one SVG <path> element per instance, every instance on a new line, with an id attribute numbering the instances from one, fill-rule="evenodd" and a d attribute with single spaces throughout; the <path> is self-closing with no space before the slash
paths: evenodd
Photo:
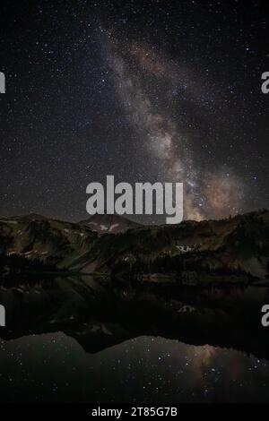
<path id="1" fill-rule="evenodd" d="M 106 233 L 100 236 L 100 230 Z M 108 215 L 76 224 L 39 215 L 0 219 L 4 277 L 65 270 L 196 285 L 268 279 L 268 267 L 268 211 L 161 227 L 128 225 Z"/>

